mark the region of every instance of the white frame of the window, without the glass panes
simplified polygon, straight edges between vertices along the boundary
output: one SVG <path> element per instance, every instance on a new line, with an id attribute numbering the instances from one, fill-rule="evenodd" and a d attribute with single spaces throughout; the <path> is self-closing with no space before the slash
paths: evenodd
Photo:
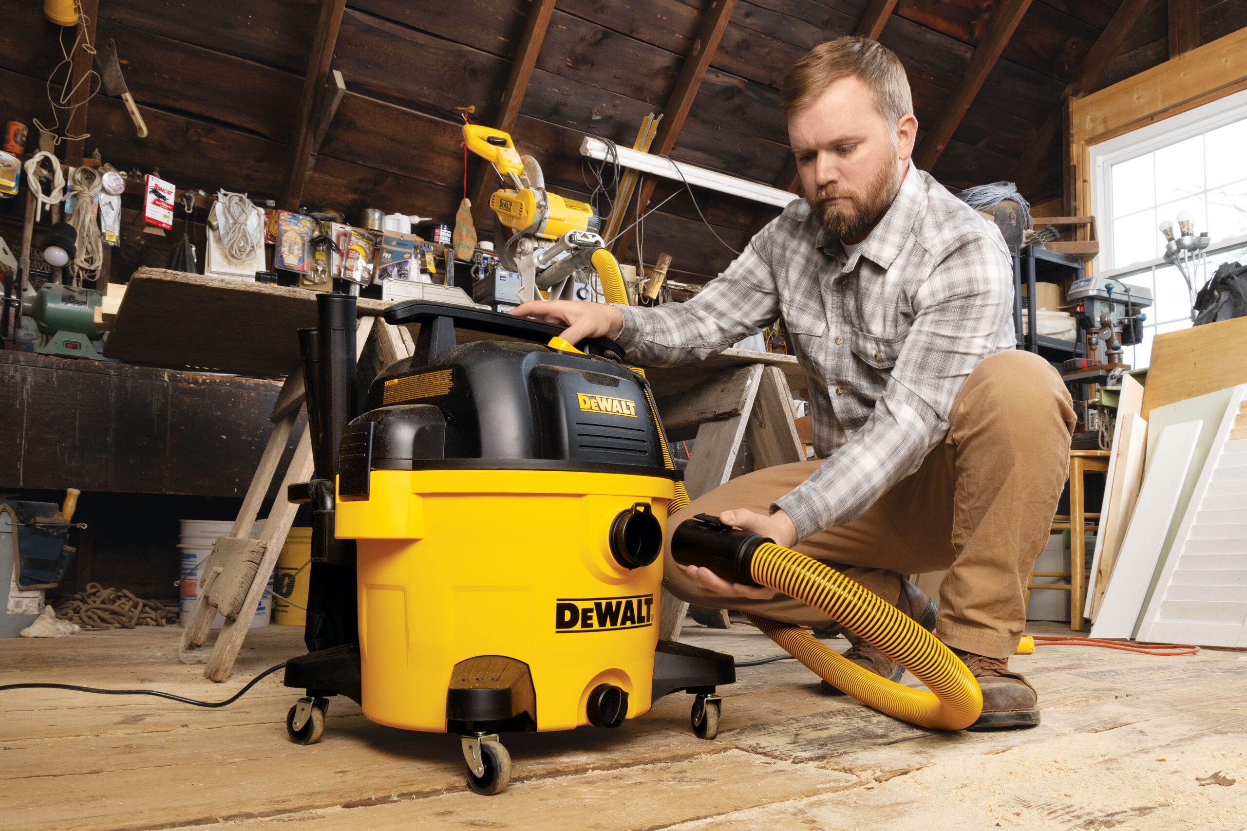
<path id="1" fill-rule="evenodd" d="M 1216 101 L 1170 116 L 1163 121 L 1131 130 L 1107 141 L 1091 145 L 1087 148 L 1091 162 L 1091 216 L 1102 217 L 1097 222 L 1100 252 L 1106 262 L 1112 259 L 1112 166 L 1130 161 L 1137 156 L 1176 145 L 1193 136 L 1223 127 L 1235 121 L 1247 118 L 1247 90 L 1227 95 Z M 1247 148 L 1243 150 L 1247 152 Z M 1196 228 L 1202 230 L 1202 228 Z M 1160 230 L 1156 232 L 1160 234 Z M 1247 235 L 1215 239 L 1208 253 L 1242 245 Z M 1099 277 L 1116 277 L 1125 273 L 1145 270 L 1151 265 L 1163 265 L 1163 258 L 1156 258 L 1127 265 L 1114 263 L 1114 268 L 1097 269 Z"/>

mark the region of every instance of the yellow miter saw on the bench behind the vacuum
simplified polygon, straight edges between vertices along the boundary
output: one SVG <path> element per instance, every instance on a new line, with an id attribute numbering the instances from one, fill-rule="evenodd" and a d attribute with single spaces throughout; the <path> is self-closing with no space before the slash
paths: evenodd
<path id="1" fill-rule="evenodd" d="M 514 232 L 499 258 L 520 275 L 521 302 L 575 300 L 577 278 L 587 278 L 590 270 L 619 270 L 599 235 L 602 222 L 592 206 L 546 191 L 541 166 L 531 156 L 520 156 L 508 133 L 464 125 L 464 143 L 510 186 L 495 191 L 489 207 Z M 622 280 L 604 279 L 601 285 L 607 303 L 626 303 L 612 297 L 612 287 Z"/>

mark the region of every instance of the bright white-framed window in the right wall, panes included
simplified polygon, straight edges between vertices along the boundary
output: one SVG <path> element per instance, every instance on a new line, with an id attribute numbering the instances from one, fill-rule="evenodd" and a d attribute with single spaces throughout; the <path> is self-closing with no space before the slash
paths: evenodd
<path id="1" fill-rule="evenodd" d="M 1091 169 L 1096 270 L 1155 298 L 1143 343 L 1126 348 L 1134 366 L 1146 366 L 1152 338 L 1191 325 L 1191 295 L 1163 260 L 1158 224 L 1186 212 L 1196 234 L 1208 232 L 1205 268 L 1191 273 L 1196 292 L 1221 263 L 1247 262 L 1247 92 L 1095 145 Z"/>

